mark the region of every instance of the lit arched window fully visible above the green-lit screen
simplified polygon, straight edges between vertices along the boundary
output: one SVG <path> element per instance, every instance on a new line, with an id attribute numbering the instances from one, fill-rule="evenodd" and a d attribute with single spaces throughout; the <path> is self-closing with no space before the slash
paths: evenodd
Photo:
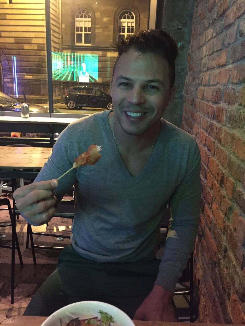
<path id="1" fill-rule="evenodd" d="M 75 44 L 91 45 L 91 14 L 85 9 L 76 13 Z"/>

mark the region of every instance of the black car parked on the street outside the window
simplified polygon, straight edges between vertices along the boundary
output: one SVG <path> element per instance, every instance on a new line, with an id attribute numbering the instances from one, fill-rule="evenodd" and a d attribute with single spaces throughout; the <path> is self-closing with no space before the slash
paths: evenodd
<path id="1" fill-rule="evenodd" d="M 112 110 L 112 98 L 98 87 L 74 86 L 65 94 L 68 109 L 89 107 Z"/>

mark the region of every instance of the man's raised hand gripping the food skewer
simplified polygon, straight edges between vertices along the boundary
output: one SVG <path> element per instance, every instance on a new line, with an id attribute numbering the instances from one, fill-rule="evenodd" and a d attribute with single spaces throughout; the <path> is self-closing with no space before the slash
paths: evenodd
<path id="1" fill-rule="evenodd" d="M 57 198 L 54 188 L 57 185 L 56 179 L 40 181 L 18 188 L 13 193 L 16 207 L 31 225 L 45 224 L 55 214 Z"/>

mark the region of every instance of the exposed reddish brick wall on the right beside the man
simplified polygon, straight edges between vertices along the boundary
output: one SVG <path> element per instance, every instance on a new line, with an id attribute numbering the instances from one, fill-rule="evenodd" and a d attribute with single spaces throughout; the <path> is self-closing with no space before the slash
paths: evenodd
<path id="1" fill-rule="evenodd" d="M 199 321 L 245 324 L 244 0 L 197 0 L 182 119 L 202 157 Z"/>

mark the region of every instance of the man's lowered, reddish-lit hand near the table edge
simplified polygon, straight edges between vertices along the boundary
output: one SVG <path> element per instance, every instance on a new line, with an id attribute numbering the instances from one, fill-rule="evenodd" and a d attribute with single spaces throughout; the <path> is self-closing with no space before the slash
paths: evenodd
<path id="1" fill-rule="evenodd" d="M 136 310 L 134 320 L 177 321 L 172 307 L 172 294 L 154 285 L 150 294 Z"/>

